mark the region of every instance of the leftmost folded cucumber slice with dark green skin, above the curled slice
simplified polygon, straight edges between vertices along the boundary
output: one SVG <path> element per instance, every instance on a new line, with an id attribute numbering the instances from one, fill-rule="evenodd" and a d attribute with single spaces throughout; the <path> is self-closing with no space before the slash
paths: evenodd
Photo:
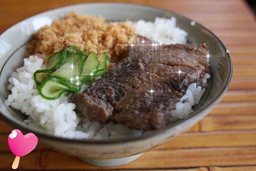
<path id="1" fill-rule="evenodd" d="M 64 62 L 66 61 L 67 49 L 63 49 L 60 52 L 57 52 L 49 57 L 47 63 L 47 69 L 45 70 L 37 70 L 34 73 L 34 79 L 37 84 L 41 84 L 41 82 L 47 78 L 49 73 L 58 70 Z"/>

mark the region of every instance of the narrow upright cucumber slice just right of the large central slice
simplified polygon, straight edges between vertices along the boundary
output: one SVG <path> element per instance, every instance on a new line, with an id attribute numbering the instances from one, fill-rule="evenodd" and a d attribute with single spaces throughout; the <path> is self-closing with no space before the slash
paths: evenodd
<path id="1" fill-rule="evenodd" d="M 95 53 L 90 53 L 87 59 L 84 61 L 83 72 L 80 76 L 80 81 L 84 82 L 88 78 L 91 78 L 99 68 L 99 60 Z"/>

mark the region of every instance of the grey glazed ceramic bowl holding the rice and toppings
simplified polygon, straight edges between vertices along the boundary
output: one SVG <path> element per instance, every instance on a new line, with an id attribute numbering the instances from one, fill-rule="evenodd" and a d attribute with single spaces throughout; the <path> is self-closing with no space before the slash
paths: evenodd
<path id="1" fill-rule="evenodd" d="M 41 26 L 76 10 L 80 14 L 102 15 L 106 20 L 154 20 L 155 17 L 177 18 L 177 26 L 189 33 L 192 43 L 207 43 L 211 78 L 201 102 L 194 113 L 163 130 L 147 132 L 139 137 L 120 139 L 66 139 L 53 136 L 23 123 L 26 116 L 4 104 L 10 93 L 6 87 L 8 78 L 16 68 L 22 66 L 26 43 Z M 195 125 L 218 103 L 227 90 L 232 77 L 232 61 L 224 44 L 201 24 L 186 17 L 162 9 L 125 3 L 86 3 L 65 6 L 36 14 L 7 29 L 0 35 L 0 113 L 1 118 L 23 133 L 32 132 L 50 148 L 80 157 L 86 162 L 100 166 L 120 165 L 131 162 L 143 152 L 161 145 Z"/>

